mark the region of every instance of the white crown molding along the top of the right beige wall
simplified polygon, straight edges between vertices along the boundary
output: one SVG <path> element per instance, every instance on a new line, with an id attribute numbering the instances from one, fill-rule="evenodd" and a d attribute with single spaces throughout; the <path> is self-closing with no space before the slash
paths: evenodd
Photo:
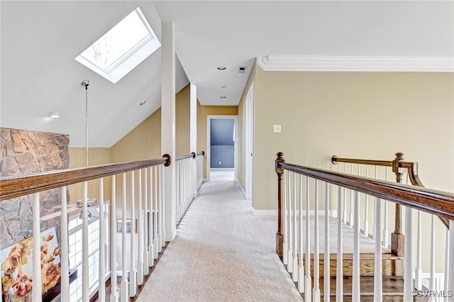
<path id="1" fill-rule="evenodd" d="M 267 55 L 265 71 L 287 72 L 454 72 L 454 57 L 352 57 Z"/>

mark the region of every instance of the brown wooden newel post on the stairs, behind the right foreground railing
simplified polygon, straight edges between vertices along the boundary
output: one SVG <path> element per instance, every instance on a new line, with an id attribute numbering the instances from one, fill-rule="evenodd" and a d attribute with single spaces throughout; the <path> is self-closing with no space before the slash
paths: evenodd
<path id="1" fill-rule="evenodd" d="M 396 181 L 402 183 L 402 168 L 401 162 L 404 161 L 404 153 L 397 152 L 396 158 L 392 161 L 392 172 L 396 174 Z M 396 203 L 396 215 L 394 221 L 394 233 L 391 234 L 391 252 L 399 257 L 404 256 L 404 234 L 402 234 L 402 222 L 401 222 L 401 206 Z"/>

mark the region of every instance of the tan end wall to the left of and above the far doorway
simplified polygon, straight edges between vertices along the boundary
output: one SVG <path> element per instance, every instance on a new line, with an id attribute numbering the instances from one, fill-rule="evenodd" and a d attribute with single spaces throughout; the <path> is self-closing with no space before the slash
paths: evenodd
<path id="1" fill-rule="evenodd" d="M 197 152 L 206 150 L 206 116 L 236 116 L 238 106 L 201 106 L 197 103 Z M 204 178 L 206 178 L 206 156 L 204 157 Z"/>

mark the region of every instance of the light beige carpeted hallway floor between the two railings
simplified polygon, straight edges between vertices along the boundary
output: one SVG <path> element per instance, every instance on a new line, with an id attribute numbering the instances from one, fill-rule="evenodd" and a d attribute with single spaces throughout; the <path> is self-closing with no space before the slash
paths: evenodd
<path id="1" fill-rule="evenodd" d="M 205 182 L 137 301 L 302 301 L 276 220 L 253 216 L 234 181 Z"/>

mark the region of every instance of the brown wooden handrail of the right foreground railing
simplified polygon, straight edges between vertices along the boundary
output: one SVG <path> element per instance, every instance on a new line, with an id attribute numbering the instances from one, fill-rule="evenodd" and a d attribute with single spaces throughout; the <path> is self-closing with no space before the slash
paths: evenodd
<path id="1" fill-rule="evenodd" d="M 416 208 L 441 218 L 454 220 L 454 194 L 424 187 L 398 184 L 368 177 L 333 172 L 324 169 L 301 167 L 276 161 L 276 168 L 287 169 L 307 177 L 353 189 L 370 196 Z"/>

